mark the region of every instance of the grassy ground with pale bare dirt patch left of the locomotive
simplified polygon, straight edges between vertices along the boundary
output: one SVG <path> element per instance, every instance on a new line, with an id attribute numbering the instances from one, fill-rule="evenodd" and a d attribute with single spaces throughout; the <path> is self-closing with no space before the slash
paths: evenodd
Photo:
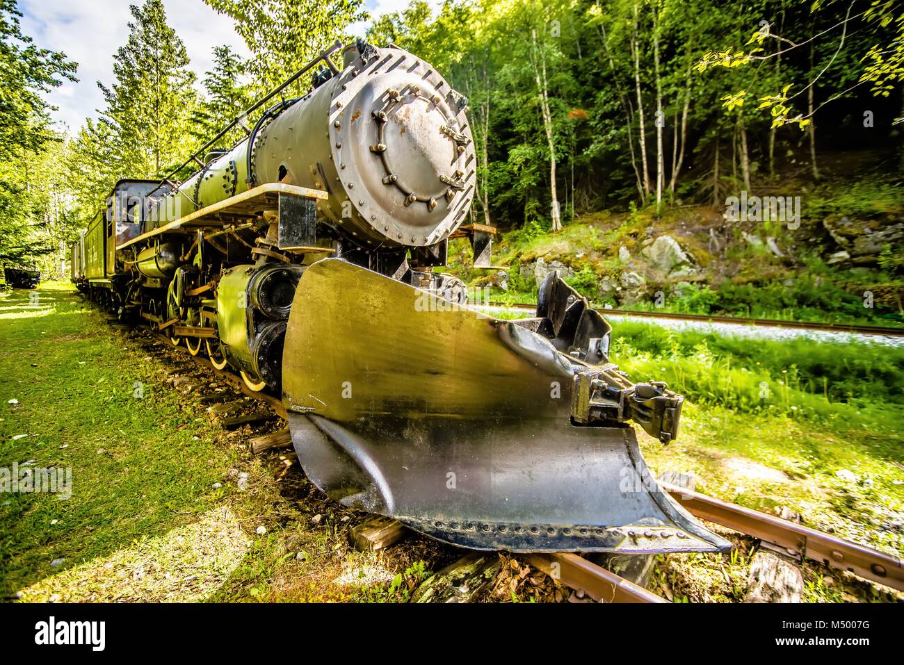
<path id="1" fill-rule="evenodd" d="M 67 286 L 38 294 L 0 298 L 0 467 L 71 467 L 72 492 L 0 494 L 0 595 L 397 599 L 405 588 L 390 593 L 393 576 L 413 584 L 421 559 L 447 561 L 426 539 L 379 556 L 349 548 L 363 515 L 325 501 L 297 467 L 278 481 L 278 454 L 252 457 L 247 434 L 212 425 L 193 395 L 167 385 L 165 359 L 111 331 Z"/>

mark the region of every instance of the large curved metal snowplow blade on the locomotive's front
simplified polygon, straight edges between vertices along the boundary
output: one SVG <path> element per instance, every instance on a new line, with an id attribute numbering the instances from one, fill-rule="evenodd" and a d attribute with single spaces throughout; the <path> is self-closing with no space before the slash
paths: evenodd
<path id="1" fill-rule="evenodd" d="M 633 427 L 572 424 L 584 368 L 523 323 L 326 258 L 297 288 L 283 402 L 321 490 L 453 545 L 729 548 L 656 484 Z"/>

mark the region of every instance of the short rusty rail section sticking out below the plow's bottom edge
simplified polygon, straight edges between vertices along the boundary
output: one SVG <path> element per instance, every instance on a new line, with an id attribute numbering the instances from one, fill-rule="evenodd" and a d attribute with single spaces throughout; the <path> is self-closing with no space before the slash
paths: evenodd
<path id="1" fill-rule="evenodd" d="M 572 589 L 582 590 L 598 603 L 667 603 L 643 586 L 619 577 L 576 554 L 532 554 L 530 564 Z"/>

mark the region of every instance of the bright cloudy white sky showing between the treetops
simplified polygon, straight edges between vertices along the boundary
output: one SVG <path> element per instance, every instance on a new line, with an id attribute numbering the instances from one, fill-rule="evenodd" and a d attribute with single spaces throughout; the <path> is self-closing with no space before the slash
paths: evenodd
<path id="1" fill-rule="evenodd" d="M 49 101 L 59 110 L 52 119 L 59 128 L 76 132 L 87 117 L 97 117 L 103 96 L 97 81 L 109 85 L 113 79 L 113 56 L 127 39 L 126 23 L 131 18 L 128 5 L 141 0 L 19 0 L 23 15 L 23 33 L 33 37 L 42 48 L 66 53 L 79 63 L 77 83 L 65 82 L 54 89 Z M 439 5 L 438 0 L 431 0 Z M 182 38 L 191 69 L 198 75 L 212 68 L 212 49 L 229 44 L 234 51 L 248 55 L 231 18 L 217 14 L 203 0 L 164 0 L 170 26 Z M 375 18 L 398 12 L 408 0 L 365 0 Z M 354 23 L 350 33 L 363 36 L 370 23 Z"/>

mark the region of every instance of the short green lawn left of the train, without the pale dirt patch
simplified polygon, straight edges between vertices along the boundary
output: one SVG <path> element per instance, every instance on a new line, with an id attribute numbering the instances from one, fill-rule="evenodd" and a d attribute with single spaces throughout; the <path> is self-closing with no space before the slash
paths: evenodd
<path id="1" fill-rule="evenodd" d="M 35 304 L 18 291 L 2 302 L 0 466 L 33 459 L 73 479 L 68 501 L 3 495 L 6 593 L 51 573 L 53 559 L 108 557 L 218 505 L 225 491 L 212 485 L 235 454 L 214 454 L 210 428 L 159 385 L 158 363 L 98 334 L 99 314 L 60 286 Z"/>

